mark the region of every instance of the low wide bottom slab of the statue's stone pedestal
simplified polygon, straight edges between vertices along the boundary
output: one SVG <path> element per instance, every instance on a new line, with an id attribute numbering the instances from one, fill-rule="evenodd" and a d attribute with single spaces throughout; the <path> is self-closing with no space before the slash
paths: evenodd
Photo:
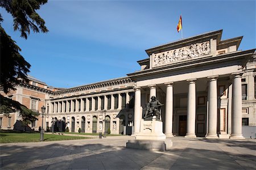
<path id="1" fill-rule="evenodd" d="M 172 147 L 171 140 L 164 141 L 145 141 L 145 140 L 129 140 L 126 143 L 127 148 L 151 151 L 166 151 Z"/>

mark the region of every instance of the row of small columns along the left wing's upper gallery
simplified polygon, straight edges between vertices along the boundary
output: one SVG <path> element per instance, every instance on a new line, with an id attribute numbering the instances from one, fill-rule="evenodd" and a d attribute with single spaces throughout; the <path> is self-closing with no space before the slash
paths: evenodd
<path id="1" fill-rule="evenodd" d="M 130 101 L 130 95 L 129 92 L 126 93 L 121 93 L 125 95 L 125 100 L 126 104 Z M 95 104 L 96 104 L 96 97 L 87 97 L 83 99 L 73 99 L 73 100 L 66 100 L 66 101 L 58 101 L 52 103 L 52 113 L 64 113 L 64 112 L 84 112 L 84 111 L 89 111 L 89 105 L 91 102 L 91 110 L 90 111 L 101 111 L 101 99 L 104 97 L 103 102 L 104 102 L 104 110 L 108 109 L 108 97 L 111 97 L 111 104 L 110 104 L 110 109 L 114 109 L 114 95 L 118 95 L 118 108 L 122 108 L 122 95 L 121 94 L 113 94 L 113 95 L 105 95 L 105 96 L 96 96 L 97 97 L 97 109 L 95 109 Z M 74 101 L 75 100 L 75 101 Z M 92 100 L 92 101 L 90 101 Z M 85 102 L 84 102 L 85 101 Z M 57 104 L 58 103 L 58 104 Z M 76 103 L 76 104 L 75 104 Z M 86 104 L 86 105 L 84 105 Z M 79 111 L 79 105 L 80 105 L 80 111 Z M 76 109 L 74 109 L 76 107 Z"/>

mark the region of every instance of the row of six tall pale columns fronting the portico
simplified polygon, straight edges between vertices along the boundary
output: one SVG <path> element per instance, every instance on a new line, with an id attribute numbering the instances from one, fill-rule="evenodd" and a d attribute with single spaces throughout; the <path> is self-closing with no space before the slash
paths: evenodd
<path id="1" fill-rule="evenodd" d="M 209 77 L 208 88 L 208 133 L 207 138 L 217 138 L 217 77 Z M 188 80 L 188 106 L 187 106 L 187 134 L 185 137 L 196 137 L 196 79 Z M 232 91 L 232 134 L 230 138 L 242 137 L 242 85 L 241 75 L 235 75 L 233 78 Z M 150 86 L 150 98 L 156 96 L 156 86 Z M 173 137 L 172 117 L 173 117 L 173 83 L 166 83 L 166 118 L 165 134 L 167 137 Z M 141 89 L 135 88 L 134 104 L 134 134 L 139 133 L 141 111 Z"/>

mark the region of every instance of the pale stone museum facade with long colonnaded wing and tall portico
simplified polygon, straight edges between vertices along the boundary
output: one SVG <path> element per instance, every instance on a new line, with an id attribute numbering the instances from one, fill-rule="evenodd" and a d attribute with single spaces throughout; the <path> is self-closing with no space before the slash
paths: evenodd
<path id="1" fill-rule="evenodd" d="M 242 37 L 221 35 L 207 32 L 147 49 L 141 70 L 122 78 L 44 91 L 45 126 L 136 135 L 156 96 L 164 104 L 167 137 L 243 138 L 242 127 L 256 126 L 256 53 L 238 50 Z"/>

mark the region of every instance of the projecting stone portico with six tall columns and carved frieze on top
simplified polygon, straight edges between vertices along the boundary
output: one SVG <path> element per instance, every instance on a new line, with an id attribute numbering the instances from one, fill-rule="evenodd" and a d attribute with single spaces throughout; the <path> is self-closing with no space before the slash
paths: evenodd
<path id="1" fill-rule="evenodd" d="M 221 33 L 209 32 L 146 50 L 149 58 L 138 61 L 142 69 L 128 74 L 137 84 L 134 135 L 148 102 L 143 99 L 156 96 L 164 104 L 163 131 L 168 137 L 218 138 L 221 134 L 243 138 L 241 75 L 254 49 L 237 51 L 241 37 L 225 40 L 224 46 Z M 231 122 L 228 112 L 232 112 Z"/>

